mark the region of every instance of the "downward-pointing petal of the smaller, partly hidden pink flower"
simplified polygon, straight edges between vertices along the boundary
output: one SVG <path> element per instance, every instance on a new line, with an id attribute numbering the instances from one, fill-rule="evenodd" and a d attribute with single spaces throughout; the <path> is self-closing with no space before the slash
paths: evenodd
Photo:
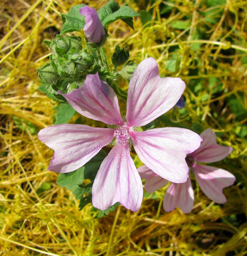
<path id="1" fill-rule="evenodd" d="M 176 207 L 184 213 L 190 213 L 194 205 L 194 191 L 190 178 L 185 183 L 171 183 L 168 187 L 163 207 L 165 211 L 173 211 Z"/>

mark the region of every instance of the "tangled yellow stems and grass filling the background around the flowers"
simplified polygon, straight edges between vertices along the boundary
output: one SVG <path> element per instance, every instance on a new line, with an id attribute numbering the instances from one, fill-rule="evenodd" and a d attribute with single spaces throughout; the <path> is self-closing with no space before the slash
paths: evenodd
<path id="1" fill-rule="evenodd" d="M 83 3 L 98 10 L 106 2 Z M 111 24 L 105 45 L 108 56 L 118 44 L 129 49 L 136 64 L 153 57 L 161 76 L 186 82 L 185 110 L 173 109 L 167 116 L 173 126 L 184 121 L 212 127 L 222 132 L 219 144 L 233 147 L 227 160 L 214 164 L 237 177 L 224 189 L 228 202 L 215 204 L 194 183 L 190 214 L 179 209 L 166 213 L 165 189 L 144 197 L 137 213 L 118 206 L 98 219 L 91 205 L 78 211 L 71 191 L 56 184 L 58 174 L 46 171 L 53 151 L 38 140 L 37 132 L 53 124 L 57 102 L 38 90 L 37 68 L 48 61 L 50 50 L 43 40 L 53 39 L 61 30 L 60 14 L 81 2 L 2 0 L 0 255 L 247 255 L 247 116 L 238 116 L 238 111 L 247 111 L 247 1 L 220 1 L 220 12 L 209 8 L 206 0 L 117 2 L 128 3 L 136 12 L 151 10 L 152 21 L 143 26 L 140 17 L 135 18 L 134 31 L 120 20 Z M 161 3 L 170 8 L 166 17 L 160 14 Z M 205 13 L 217 22 L 212 25 Z M 188 25 L 176 28 L 177 21 Z M 195 38 L 196 30 L 205 37 Z M 127 89 L 125 83 L 121 86 Z M 234 104 L 226 100 L 230 96 L 241 103 L 240 110 L 233 111 Z M 86 122 L 97 126 L 85 118 Z M 133 152 L 132 156 L 140 165 Z"/>

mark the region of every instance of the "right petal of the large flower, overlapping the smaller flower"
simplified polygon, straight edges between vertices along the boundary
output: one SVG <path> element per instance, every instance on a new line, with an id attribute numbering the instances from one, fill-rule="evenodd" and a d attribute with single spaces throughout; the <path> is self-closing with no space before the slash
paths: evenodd
<path id="1" fill-rule="evenodd" d="M 140 160 L 156 174 L 174 183 L 186 182 L 189 168 L 185 157 L 200 146 L 198 134 L 182 128 L 130 131 Z"/>

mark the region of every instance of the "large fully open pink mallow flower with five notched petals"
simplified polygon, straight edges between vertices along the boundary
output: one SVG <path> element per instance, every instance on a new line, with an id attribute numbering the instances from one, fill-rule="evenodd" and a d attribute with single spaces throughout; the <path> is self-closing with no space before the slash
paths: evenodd
<path id="1" fill-rule="evenodd" d="M 39 139 L 55 151 L 48 170 L 74 171 L 114 140 L 115 145 L 94 180 L 92 203 L 105 210 L 120 202 L 125 208 L 137 211 L 143 188 L 130 156 L 132 144 L 140 160 L 164 179 L 185 182 L 188 178 L 185 157 L 200 146 L 200 136 L 182 128 L 147 131 L 138 128 L 172 108 L 184 89 L 185 83 L 180 78 L 159 77 L 155 59 L 143 60 L 130 79 L 127 113 L 122 118 L 113 89 L 98 74 L 89 74 L 81 88 L 63 95 L 78 113 L 115 127 L 60 124 L 42 129 Z"/>

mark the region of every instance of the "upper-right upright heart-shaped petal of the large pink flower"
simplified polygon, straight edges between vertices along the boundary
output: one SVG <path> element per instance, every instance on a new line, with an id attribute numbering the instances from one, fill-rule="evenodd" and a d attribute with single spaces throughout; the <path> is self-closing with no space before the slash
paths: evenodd
<path id="1" fill-rule="evenodd" d="M 128 125 L 143 126 L 161 116 L 177 103 L 184 89 L 185 83 L 180 78 L 160 78 L 155 59 L 143 60 L 129 82 Z"/>

